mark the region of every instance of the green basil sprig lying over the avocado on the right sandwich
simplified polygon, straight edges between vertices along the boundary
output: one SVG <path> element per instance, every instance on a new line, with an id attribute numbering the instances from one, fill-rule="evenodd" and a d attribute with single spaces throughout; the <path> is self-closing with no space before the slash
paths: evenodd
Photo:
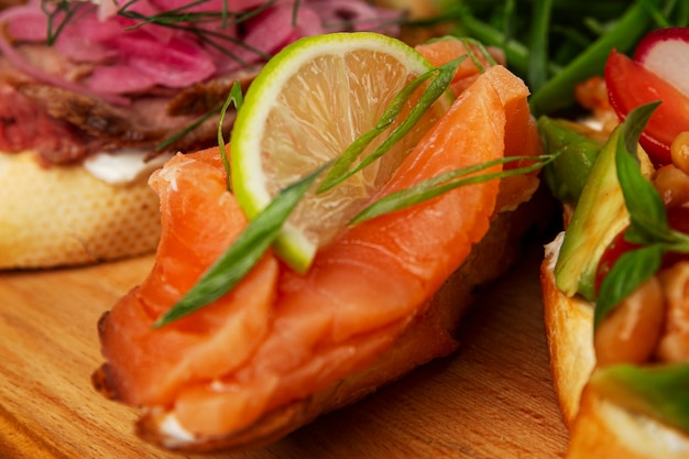
<path id="1" fill-rule="evenodd" d="M 615 165 L 630 211 L 625 239 L 641 247 L 622 254 L 603 280 L 595 302 L 594 327 L 658 272 L 667 252 L 689 253 L 689 236 L 670 228 L 663 198 L 639 168 L 638 138 L 657 105 L 636 108 L 621 125 Z"/>

